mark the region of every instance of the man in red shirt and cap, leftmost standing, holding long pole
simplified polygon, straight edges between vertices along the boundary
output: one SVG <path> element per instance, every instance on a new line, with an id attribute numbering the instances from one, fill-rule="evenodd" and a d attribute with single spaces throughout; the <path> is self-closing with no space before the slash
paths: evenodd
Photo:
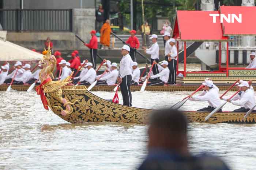
<path id="1" fill-rule="evenodd" d="M 97 56 L 97 49 L 98 49 L 98 39 L 95 36 L 96 31 L 92 30 L 91 32 L 91 40 L 89 44 L 84 43 L 84 46 L 90 48 L 90 55 L 91 55 L 91 62 L 93 63 L 94 69 L 96 69 L 96 56 Z"/>

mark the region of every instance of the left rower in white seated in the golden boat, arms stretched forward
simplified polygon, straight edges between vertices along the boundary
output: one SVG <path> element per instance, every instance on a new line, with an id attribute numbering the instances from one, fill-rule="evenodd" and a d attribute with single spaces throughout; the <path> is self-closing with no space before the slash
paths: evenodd
<path id="1" fill-rule="evenodd" d="M 189 95 L 189 100 L 196 100 L 196 101 L 207 101 L 209 103 L 208 107 L 204 107 L 197 111 L 213 111 L 216 107 L 221 105 L 221 99 L 219 99 L 219 90 L 218 88 L 213 88 L 214 84 L 210 80 L 206 80 L 203 82 L 204 87 L 203 92 L 200 95 L 192 96 Z M 220 109 L 219 112 L 222 110 Z"/>

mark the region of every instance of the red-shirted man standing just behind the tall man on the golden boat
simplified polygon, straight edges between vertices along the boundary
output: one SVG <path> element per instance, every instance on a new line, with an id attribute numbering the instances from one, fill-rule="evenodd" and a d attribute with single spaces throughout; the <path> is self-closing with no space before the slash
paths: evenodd
<path id="1" fill-rule="evenodd" d="M 140 41 L 135 36 L 136 31 L 134 29 L 132 29 L 132 31 L 130 31 L 130 33 L 131 33 L 131 36 L 128 38 L 128 40 L 125 43 L 129 44 L 132 47 L 130 49 L 130 56 L 131 56 L 132 60 L 134 62 L 136 62 L 136 49 L 138 49 L 140 47 Z"/>

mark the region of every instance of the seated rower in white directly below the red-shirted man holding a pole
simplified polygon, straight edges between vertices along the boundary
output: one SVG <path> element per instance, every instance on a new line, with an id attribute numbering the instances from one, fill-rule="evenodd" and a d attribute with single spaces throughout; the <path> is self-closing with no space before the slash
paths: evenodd
<path id="1" fill-rule="evenodd" d="M 96 71 L 93 69 L 93 64 L 89 62 L 89 63 L 86 64 L 86 66 L 87 66 L 88 71 L 87 71 L 86 75 L 84 75 L 79 80 L 79 82 L 78 82 L 79 85 L 83 85 L 83 86 L 90 85 L 96 79 Z"/>

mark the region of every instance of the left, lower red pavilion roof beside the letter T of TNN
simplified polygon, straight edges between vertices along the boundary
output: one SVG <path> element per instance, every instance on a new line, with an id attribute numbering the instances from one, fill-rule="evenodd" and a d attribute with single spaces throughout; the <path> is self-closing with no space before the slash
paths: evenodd
<path id="1" fill-rule="evenodd" d="M 220 18 L 213 23 L 210 13 L 218 11 L 177 11 L 173 37 L 181 41 L 229 41 L 222 36 Z"/>

